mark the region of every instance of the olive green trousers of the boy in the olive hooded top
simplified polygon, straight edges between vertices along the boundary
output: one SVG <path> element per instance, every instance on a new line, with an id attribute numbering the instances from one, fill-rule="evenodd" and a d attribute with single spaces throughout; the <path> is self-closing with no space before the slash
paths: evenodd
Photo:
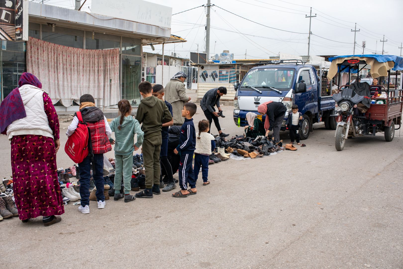
<path id="1" fill-rule="evenodd" d="M 151 189 L 152 185 L 160 185 L 160 152 L 162 136 L 153 136 L 143 141 L 143 158 L 145 168 L 145 188 Z"/>

